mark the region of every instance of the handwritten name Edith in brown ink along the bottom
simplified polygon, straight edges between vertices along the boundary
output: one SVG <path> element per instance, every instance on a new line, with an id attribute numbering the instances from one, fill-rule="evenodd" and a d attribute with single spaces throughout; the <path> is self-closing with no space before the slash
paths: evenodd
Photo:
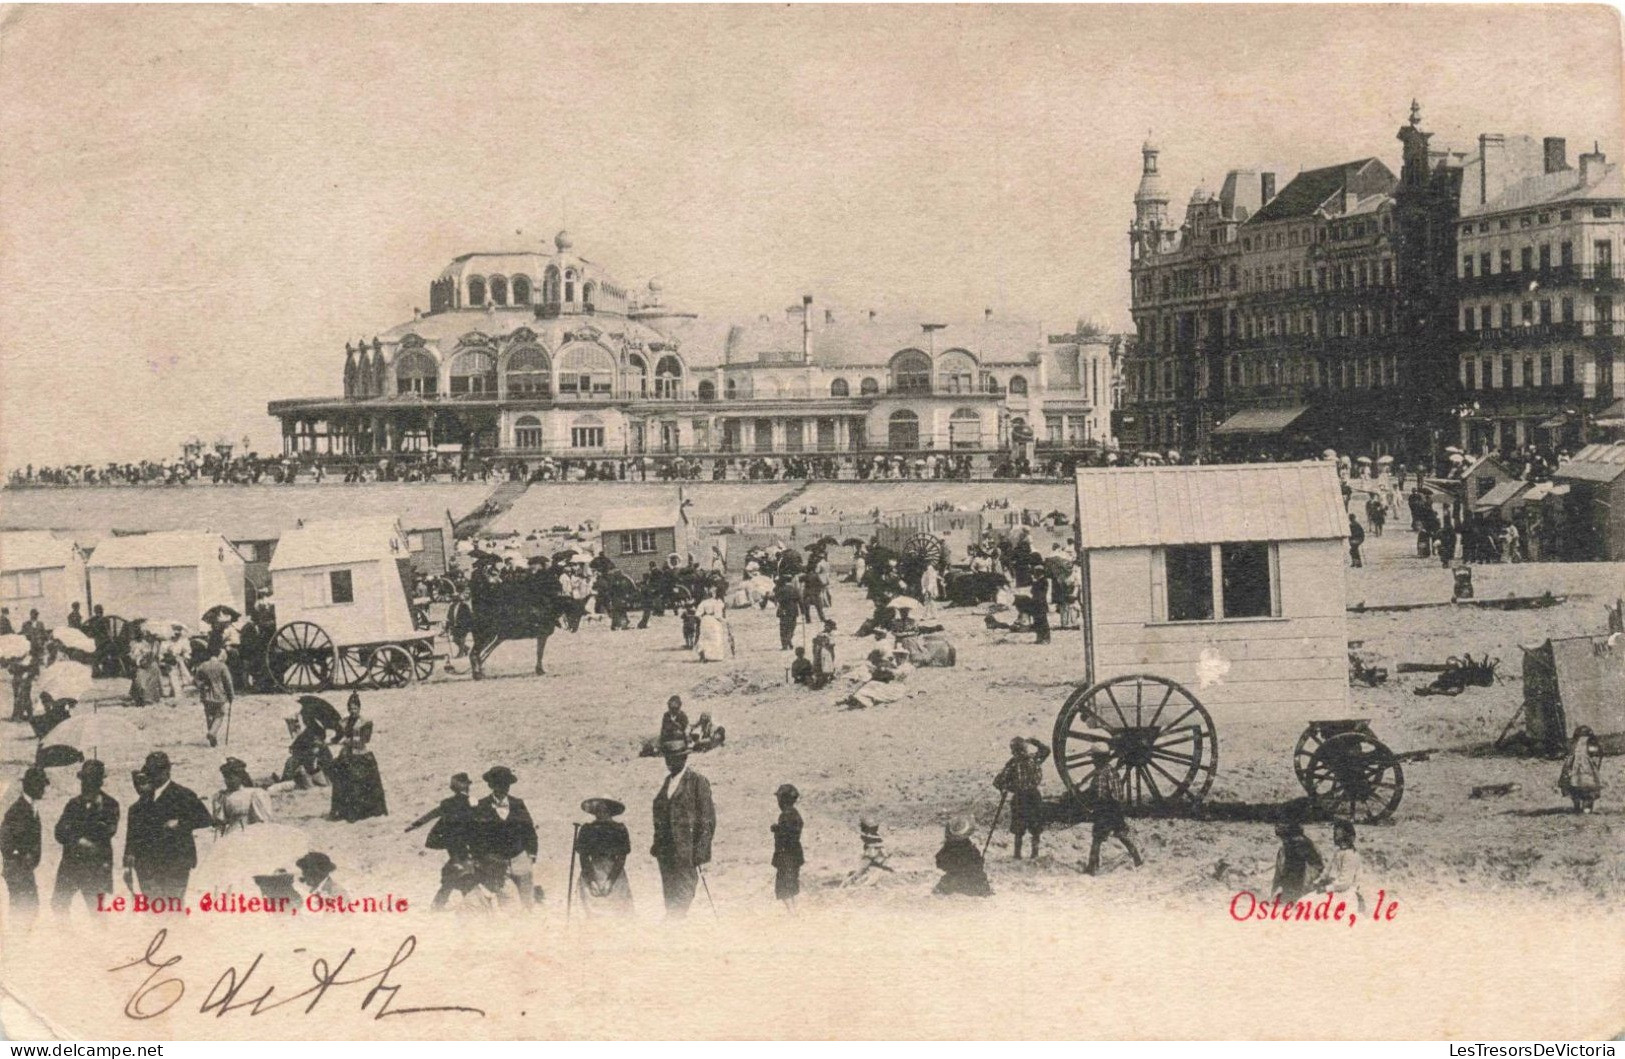
<path id="1" fill-rule="evenodd" d="M 119 966 L 107 968 L 109 975 L 117 975 L 120 971 L 135 970 L 136 973 L 146 971 L 146 978 L 135 988 L 130 999 L 124 1002 L 124 1014 L 128 1018 L 156 1018 L 166 1014 L 187 994 L 187 983 L 176 970 L 184 957 L 164 955 L 164 942 L 169 939 L 169 931 L 161 929 L 153 934 L 153 939 L 146 942 L 146 952 L 130 960 L 128 963 L 120 963 Z M 358 991 L 349 992 L 349 999 L 361 997 L 362 1012 L 372 1012 L 372 1018 L 379 1020 L 390 1015 L 427 1015 L 437 1012 L 460 1012 L 466 1015 L 484 1017 L 484 1010 L 478 1007 L 462 1007 L 462 1005 L 432 1005 L 432 1007 L 395 1007 L 395 997 L 400 994 L 401 986 L 390 981 L 390 975 L 396 971 L 406 960 L 411 958 L 413 952 L 418 949 L 418 936 L 408 934 L 406 940 L 400 944 L 390 962 L 377 971 L 369 975 L 356 975 L 353 978 L 344 978 L 346 968 L 349 968 L 351 958 L 356 950 L 348 950 L 338 963 L 332 963 L 327 957 L 317 957 L 310 962 L 310 986 L 291 994 L 278 994 L 276 986 L 265 986 L 254 979 L 254 973 L 260 968 L 260 962 L 265 953 L 255 953 L 244 970 L 237 966 L 228 966 L 221 971 L 219 978 L 210 988 L 208 996 L 198 1005 L 198 1014 L 214 1015 L 216 1018 L 224 1018 L 237 1012 L 247 1012 L 252 1015 L 263 1015 L 273 1012 L 280 1007 L 291 1004 L 304 1004 L 304 1014 L 309 1015 L 315 1010 L 328 991 L 344 991 L 351 986 L 370 988 L 361 994 Z M 296 949 L 294 952 L 304 952 Z M 335 1001 L 336 1002 L 336 1001 Z"/>

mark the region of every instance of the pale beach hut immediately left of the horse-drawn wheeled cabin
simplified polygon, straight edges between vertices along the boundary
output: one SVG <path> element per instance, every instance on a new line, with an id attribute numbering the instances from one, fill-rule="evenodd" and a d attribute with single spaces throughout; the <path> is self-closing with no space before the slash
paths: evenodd
<path id="1" fill-rule="evenodd" d="M 86 564 L 91 604 L 109 617 L 187 622 L 216 604 L 244 611 L 242 555 L 218 533 L 172 530 L 102 539 Z"/>

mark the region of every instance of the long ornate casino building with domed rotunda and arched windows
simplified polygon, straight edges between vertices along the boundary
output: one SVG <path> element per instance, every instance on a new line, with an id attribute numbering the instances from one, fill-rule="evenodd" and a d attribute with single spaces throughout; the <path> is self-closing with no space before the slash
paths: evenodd
<path id="1" fill-rule="evenodd" d="M 1108 443 L 1116 346 L 803 297 L 713 322 L 575 253 L 465 253 L 429 312 L 344 346 L 343 393 L 270 403 L 289 456 L 1009 452 Z"/>

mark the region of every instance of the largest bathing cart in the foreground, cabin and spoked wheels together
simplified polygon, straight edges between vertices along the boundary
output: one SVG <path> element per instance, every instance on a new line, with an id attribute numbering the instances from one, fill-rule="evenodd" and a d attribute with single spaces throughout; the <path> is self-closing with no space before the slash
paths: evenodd
<path id="1" fill-rule="evenodd" d="M 1053 733 L 1068 793 L 1103 750 L 1129 804 L 1199 801 L 1217 716 L 1300 733 L 1294 772 L 1323 812 L 1391 815 L 1399 759 L 1347 716 L 1347 533 L 1331 463 L 1079 471 L 1086 681 Z"/>

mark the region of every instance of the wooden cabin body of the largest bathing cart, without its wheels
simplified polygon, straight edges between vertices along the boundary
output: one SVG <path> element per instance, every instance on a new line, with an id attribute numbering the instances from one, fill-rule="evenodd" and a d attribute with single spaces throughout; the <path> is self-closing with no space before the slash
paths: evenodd
<path id="1" fill-rule="evenodd" d="M 1159 674 L 1243 720 L 1341 716 L 1347 536 L 1326 461 L 1077 471 L 1087 679 Z"/>

